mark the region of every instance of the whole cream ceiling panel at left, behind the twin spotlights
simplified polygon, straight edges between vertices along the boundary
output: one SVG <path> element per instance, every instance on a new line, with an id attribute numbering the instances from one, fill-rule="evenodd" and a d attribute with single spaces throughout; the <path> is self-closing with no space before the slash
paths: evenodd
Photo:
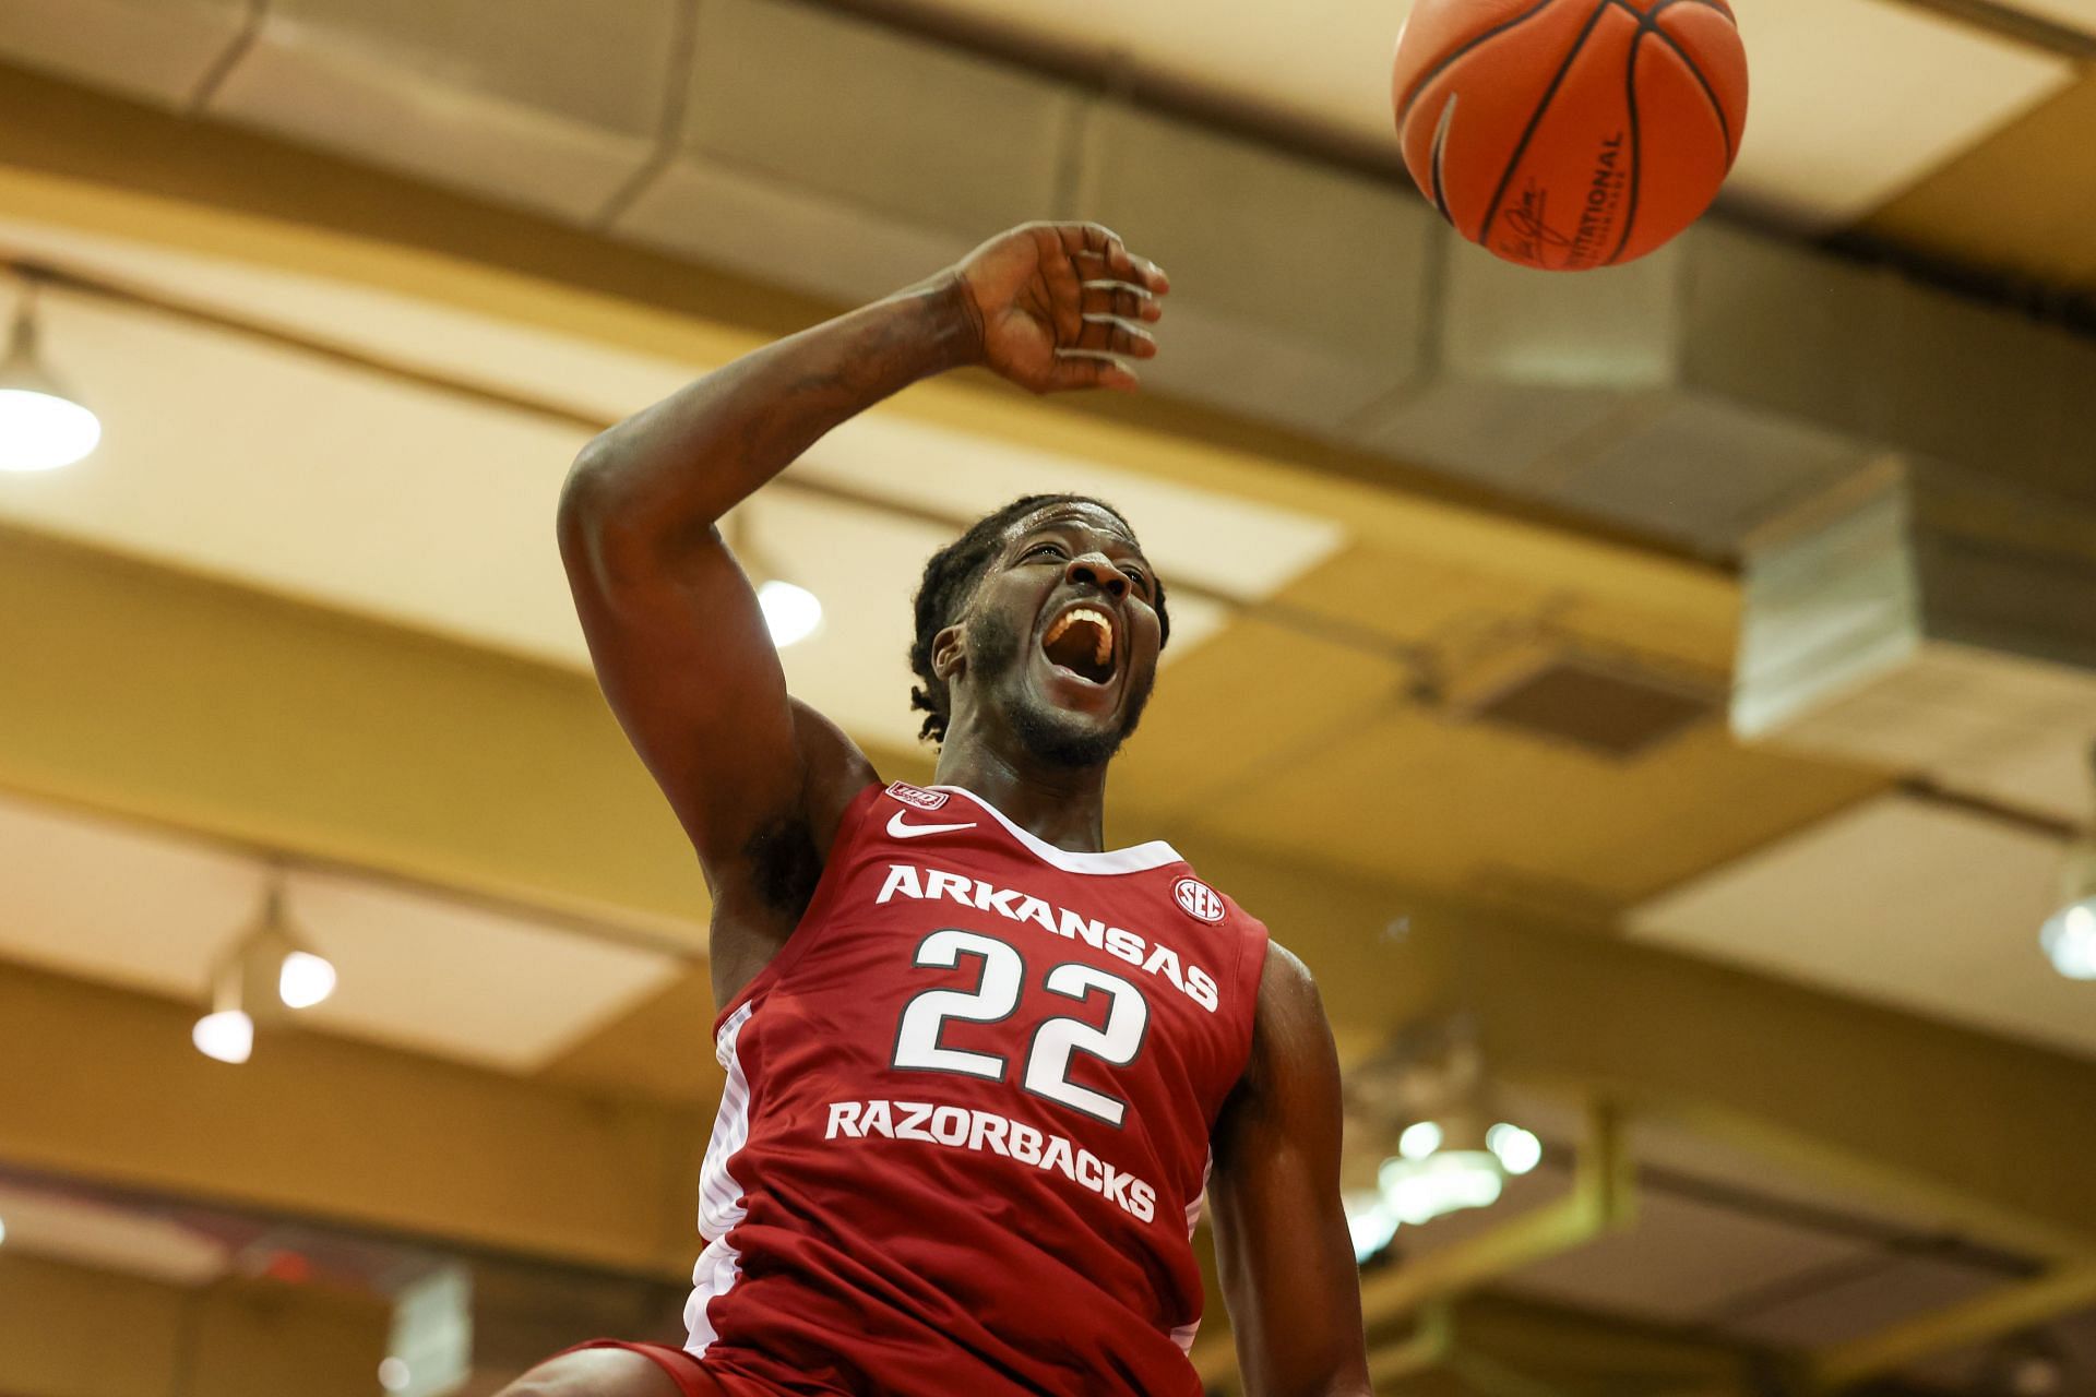
<path id="1" fill-rule="evenodd" d="M 199 1005 L 260 919 L 272 873 L 252 850 L 13 798 L 0 798 L 0 955 Z M 325 1003 L 296 1016 L 300 1028 L 518 1074 L 625 1018 L 685 963 L 635 945 L 648 934 L 631 928 L 564 926 L 335 869 L 287 869 L 283 907 L 340 974 Z"/>

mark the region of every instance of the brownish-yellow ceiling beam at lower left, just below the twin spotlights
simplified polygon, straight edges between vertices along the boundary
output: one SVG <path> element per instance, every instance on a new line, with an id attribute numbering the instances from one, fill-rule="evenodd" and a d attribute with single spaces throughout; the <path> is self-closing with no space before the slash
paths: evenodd
<path id="1" fill-rule="evenodd" d="M 704 1114 L 0 966 L 0 1162 L 384 1234 L 687 1276 Z M 547 1148 L 558 1141 L 558 1148 Z"/>

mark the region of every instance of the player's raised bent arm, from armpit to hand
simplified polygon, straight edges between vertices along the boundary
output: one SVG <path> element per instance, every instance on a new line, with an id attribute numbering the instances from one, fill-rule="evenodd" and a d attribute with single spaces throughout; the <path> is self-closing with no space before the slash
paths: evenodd
<path id="1" fill-rule="evenodd" d="M 1165 289 L 1096 224 L 1027 224 L 882 302 L 771 343 L 593 440 L 560 545 L 597 677 L 683 821 L 708 882 L 767 831 L 820 859 L 866 758 L 786 697 L 721 517 L 840 421 L 960 364 L 1033 392 L 1134 387 Z"/>

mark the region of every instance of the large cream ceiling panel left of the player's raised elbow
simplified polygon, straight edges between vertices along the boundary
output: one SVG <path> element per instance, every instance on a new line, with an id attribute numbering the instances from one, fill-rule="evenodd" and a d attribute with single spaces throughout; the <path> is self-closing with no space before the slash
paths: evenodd
<path id="1" fill-rule="evenodd" d="M 0 519 L 583 664 L 551 522 L 589 431 L 99 302 L 42 318 L 103 444 L 0 482 Z"/>

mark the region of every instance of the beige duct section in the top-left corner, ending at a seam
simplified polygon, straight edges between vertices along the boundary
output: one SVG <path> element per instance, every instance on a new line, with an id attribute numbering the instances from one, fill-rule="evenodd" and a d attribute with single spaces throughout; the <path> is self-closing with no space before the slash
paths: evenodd
<path id="1" fill-rule="evenodd" d="M 247 0 L 8 0 L 0 52 L 163 107 L 187 107 L 247 25 Z"/>

